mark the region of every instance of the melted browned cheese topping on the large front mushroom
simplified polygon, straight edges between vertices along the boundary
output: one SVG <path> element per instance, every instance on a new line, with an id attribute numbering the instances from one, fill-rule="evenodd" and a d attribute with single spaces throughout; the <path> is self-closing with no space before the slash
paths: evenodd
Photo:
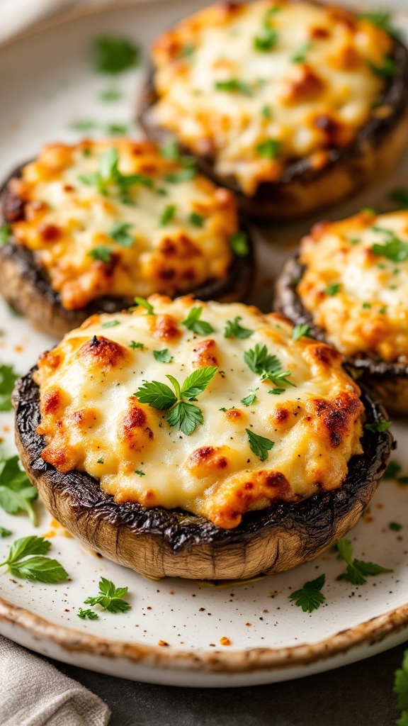
<path id="1" fill-rule="evenodd" d="M 198 303 L 209 335 L 182 325 L 197 306 L 192 298 L 153 295 L 150 303 L 154 314 L 138 307 L 93 316 L 41 357 L 34 378 L 44 460 L 62 472 L 88 472 L 116 502 L 181 507 L 226 529 L 248 510 L 341 486 L 350 457 L 362 452 L 364 409 L 337 351 L 293 340 L 286 319 L 240 303 Z M 249 338 L 224 337 L 236 317 L 253 331 Z M 293 386 L 280 381 L 281 393 L 271 395 L 274 383 L 244 360 L 256 344 L 278 357 Z M 153 351 L 166 348 L 172 360 L 159 362 Z M 203 424 L 190 436 L 134 396 L 144 380 L 168 383 L 170 374 L 182 383 L 208 365 L 218 371 L 197 395 Z M 245 406 L 250 391 L 256 399 Z M 247 428 L 274 441 L 264 462 Z"/>

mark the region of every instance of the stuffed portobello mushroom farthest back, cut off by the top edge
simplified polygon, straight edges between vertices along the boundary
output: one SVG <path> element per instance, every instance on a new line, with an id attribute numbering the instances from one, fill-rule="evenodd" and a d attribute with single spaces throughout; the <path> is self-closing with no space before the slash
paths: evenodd
<path id="1" fill-rule="evenodd" d="M 392 32 L 392 31 L 391 31 Z M 385 176 L 408 138 L 408 52 L 314 0 L 219 2 L 152 46 L 139 120 L 264 219 L 293 219 Z"/>

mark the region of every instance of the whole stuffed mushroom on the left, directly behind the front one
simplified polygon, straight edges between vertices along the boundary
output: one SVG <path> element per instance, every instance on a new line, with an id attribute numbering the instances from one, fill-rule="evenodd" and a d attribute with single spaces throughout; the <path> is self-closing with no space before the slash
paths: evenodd
<path id="1" fill-rule="evenodd" d="M 62 337 L 152 293 L 235 300 L 253 252 L 234 197 L 174 144 L 49 145 L 0 194 L 0 291 Z"/>

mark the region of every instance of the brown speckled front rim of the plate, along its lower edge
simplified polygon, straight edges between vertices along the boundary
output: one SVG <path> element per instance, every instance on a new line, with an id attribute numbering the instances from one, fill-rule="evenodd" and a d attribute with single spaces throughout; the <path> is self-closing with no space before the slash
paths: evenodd
<path id="1" fill-rule="evenodd" d="M 383 613 L 355 627 L 342 630 L 318 643 L 303 643 L 289 648 L 248 648 L 213 650 L 211 653 L 177 650 L 169 645 L 126 643 L 85 634 L 76 629 L 52 624 L 18 605 L 0 597 L 0 621 L 17 625 L 31 635 L 46 638 L 68 653 L 87 653 L 104 658 L 124 658 L 131 663 L 145 663 L 163 669 L 205 670 L 208 673 L 250 673 L 310 666 L 319 661 L 348 653 L 359 645 L 374 645 L 408 627 L 408 603 Z M 404 638 L 401 639 L 403 642 Z M 394 643 L 393 645 L 396 645 Z"/>

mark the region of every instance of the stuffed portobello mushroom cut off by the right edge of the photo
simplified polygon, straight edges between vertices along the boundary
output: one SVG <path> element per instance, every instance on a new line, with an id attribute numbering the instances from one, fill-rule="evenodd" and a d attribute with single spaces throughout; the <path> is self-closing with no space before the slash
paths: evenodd
<path id="1" fill-rule="evenodd" d="M 275 307 L 335 346 L 389 412 L 408 415 L 408 211 L 315 225 Z"/>

